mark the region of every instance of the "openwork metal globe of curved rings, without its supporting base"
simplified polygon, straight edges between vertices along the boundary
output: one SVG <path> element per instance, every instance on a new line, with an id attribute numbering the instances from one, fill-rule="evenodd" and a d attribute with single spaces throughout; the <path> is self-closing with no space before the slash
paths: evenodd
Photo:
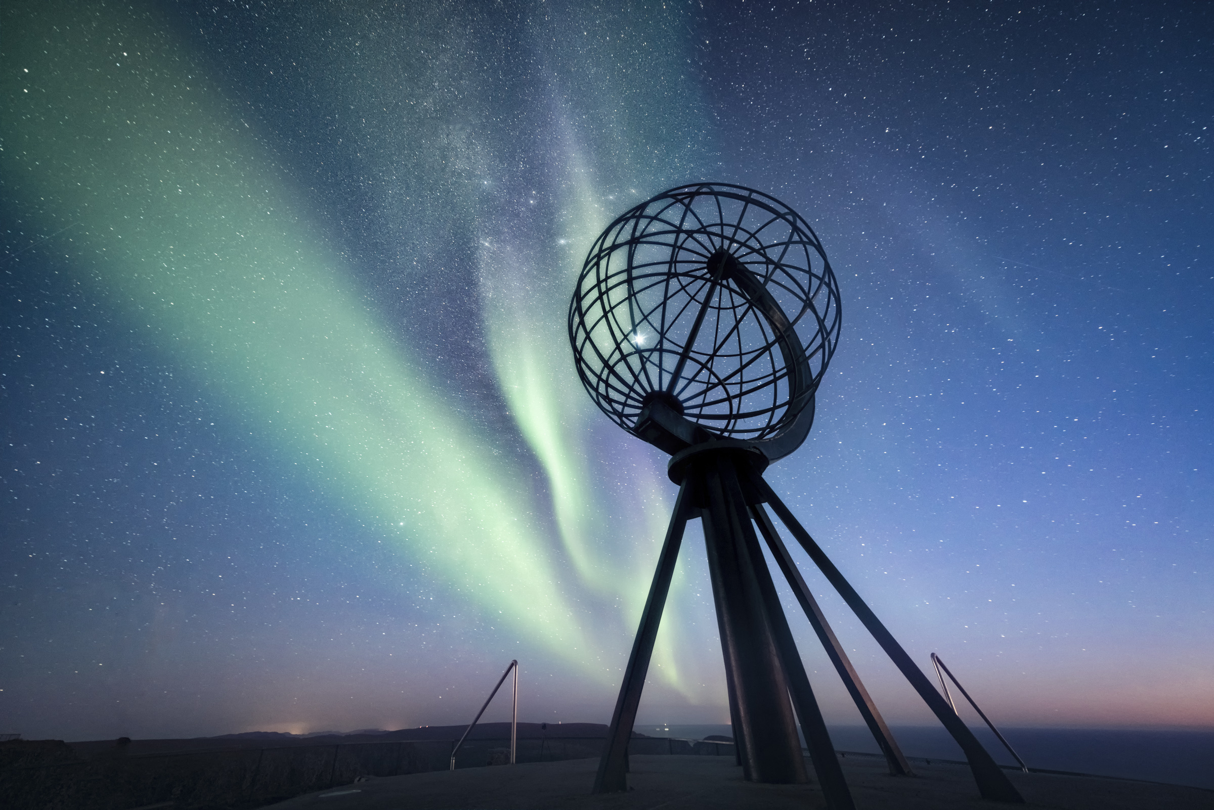
<path id="1" fill-rule="evenodd" d="M 839 286 L 813 229 L 742 186 L 682 186 L 612 222 L 569 306 L 578 375 L 617 424 L 669 452 L 804 440 L 839 342 Z"/>

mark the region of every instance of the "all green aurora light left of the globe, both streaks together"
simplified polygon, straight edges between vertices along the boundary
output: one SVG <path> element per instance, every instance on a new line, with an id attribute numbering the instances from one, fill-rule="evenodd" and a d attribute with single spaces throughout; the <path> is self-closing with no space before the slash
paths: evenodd
<path id="1" fill-rule="evenodd" d="M 53 2 L 23 13 L 17 21 L 8 12 L 5 38 L 2 171 L 23 210 L 38 212 L 44 233 L 67 227 L 47 246 L 125 313 L 131 329 L 152 332 L 171 361 L 236 413 L 254 440 L 274 446 L 283 463 L 306 468 L 313 486 L 352 507 L 365 524 L 384 526 L 407 560 L 458 598 L 476 600 L 495 616 L 501 610 L 501 620 L 588 674 L 617 679 L 617 662 L 605 667 L 588 660 L 590 637 L 575 620 L 569 588 L 554 586 L 567 582 L 572 567 L 577 586 L 613 604 L 630 632 L 671 492 L 652 473 L 619 484 L 617 497 L 630 508 L 611 510 L 609 531 L 605 527 L 608 509 L 594 496 L 586 439 L 605 423 L 573 375 L 565 310 L 588 245 L 613 209 L 625 205 L 594 189 L 620 188 L 622 178 L 636 176 L 664 183 L 679 171 L 677 161 L 649 155 L 639 165 L 634 155 L 646 155 L 648 130 L 677 122 L 634 121 L 629 135 L 611 114 L 635 102 L 639 90 L 620 85 L 614 95 L 586 102 L 612 121 L 601 142 L 579 142 L 569 124 L 577 113 L 554 90 L 562 142 L 552 188 L 566 215 L 552 223 L 546 245 L 504 238 L 509 223 L 481 210 L 473 181 L 449 202 L 456 216 L 478 223 L 490 359 L 511 415 L 548 477 L 560 538 L 555 547 L 537 517 L 545 509 L 516 484 L 527 475 L 486 449 L 489 443 L 452 411 L 438 381 L 429 380 L 361 303 L 340 252 L 316 235 L 318 223 L 293 202 L 297 190 L 155 15 Z M 584 27 L 568 19 L 552 24 Z M 416 28 L 419 38 L 444 35 L 437 12 Z M 654 51 L 674 64 L 679 42 L 666 36 L 669 46 Z M 385 46 L 382 39 L 379 44 Z M 365 58 L 374 62 L 375 42 L 367 45 Z M 617 41 L 611 47 L 630 46 Z M 629 58 L 654 58 L 637 57 L 641 52 Z M 618 63 L 620 56 L 606 52 L 602 61 Z M 580 57 L 569 49 L 554 50 L 550 58 L 560 65 Z M 635 70 L 677 75 L 677 67 L 664 64 Z M 367 99 L 357 75 L 323 73 L 318 82 L 322 92 L 362 99 L 352 105 L 352 118 L 376 124 L 378 116 L 379 131 L 396 132 L 395 144 L 364 154 L 392 176 L 390 164 L 405 144 L 435 139 L 435 116 L 402 121 Z M 420 72 L 414 81 L 422 93 L 433 75 Z M 582 91 L 561 92 L 585 96 Z M 461 105 L 469 107 L 475 104 Z M 452 147 L 454 130 L 464 132 L 464 141 Z M 464 179 L 492 171 L 492 158 L 483 158 L 492 150 L 476 132 L 475 121 L 456 120 L 442 133 L 448 152 L 418 160 L 443 162 L 444 171 Z M 452 154 L 459 160 L 448 160 Z M 636 189 L 632 194 L 641 199 Z M 391 211 L 392 201 L 382 202 Z M 679 599 L 676 587 L 675 614 Z M 690 696 L 679 684 L 681 656 L 673 638 L 679 621 L 671 620 L 663 624 L 656 677 Z"/>

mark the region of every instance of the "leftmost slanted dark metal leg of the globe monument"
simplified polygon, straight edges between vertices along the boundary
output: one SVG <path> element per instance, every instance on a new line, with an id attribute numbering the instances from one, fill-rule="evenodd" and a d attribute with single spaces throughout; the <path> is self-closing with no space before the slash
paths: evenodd
<path id="1" fill-rule="evenodd" d="M 670 527 L 666 530 L 658 567 L 653 572 L 649 595 L 641 612 L 641 626 L 632 641 L 632 652 L 628 657 L 624 680 L 619 685 L 619 697 L 612 713 L 611 726 L 602 758 L 599 760 L 599 774 L 595 776 L 594 793 L 619 793 L 628 789 L 628 741 L 632 736 L 632 724 L 636 721 L 636 707 L 641 702 L 641 690 L 645 688 L 645 675 L 649 671 L 649 658 L 653 655 L 653 641 L 658 637 L 658 624 L 662 622 L 662 610 L 670 593 L 670 580 L 679 559 L 679 547 L 682 544 L 683 529 L 691 510 L 688 483 L 679 487 L 674 514 L 670 515 Z"/>

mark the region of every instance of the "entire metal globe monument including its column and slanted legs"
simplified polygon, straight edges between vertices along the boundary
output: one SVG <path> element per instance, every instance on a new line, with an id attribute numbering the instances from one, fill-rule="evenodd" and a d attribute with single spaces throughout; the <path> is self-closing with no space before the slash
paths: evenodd
<path id="1" fill-rule="evenodd" d="M 612 222 L 569 304 L 578 375 L 625 430 L 671 455 L 679 485 L 607 729 L 595 793 L 628 789 L 645 678 L 690 520 L 699 520 L 721 631 L 730 723 L 745 778 L 805 782 L 800 724 L 830 810 L 855 804 L 776 591 L 760 536 L 800 603 L 890 772 L 910 765 L 798 571 L 784 525 L 965 752 L 981 794 L 1023 802 L 974 732 L 762 478 L 813 423 L 839 343 L 839 286 L 809 223 L 742 186 L 663 192 Z"/>

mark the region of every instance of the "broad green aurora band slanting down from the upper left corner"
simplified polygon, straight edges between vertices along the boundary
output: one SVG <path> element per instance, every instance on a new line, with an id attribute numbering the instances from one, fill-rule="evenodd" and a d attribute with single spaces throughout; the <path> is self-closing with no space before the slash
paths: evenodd
<path id="1" fill-rule="evenodd" d="M 146 17 L 51 22 L 70 16 L 44 6 L 11 38 L 29 80 L 6 82 L 4 138 L 24 200 L 81 223 L 73 263 L 251 429 L 300 446 L 318 485 L 403 524 L 410 557 L 432 552 L 452 586 L 551 649 L 584 649 L 527 496 L 501 484 L 514 470 L 370 320 L 215 91 Z"/>

